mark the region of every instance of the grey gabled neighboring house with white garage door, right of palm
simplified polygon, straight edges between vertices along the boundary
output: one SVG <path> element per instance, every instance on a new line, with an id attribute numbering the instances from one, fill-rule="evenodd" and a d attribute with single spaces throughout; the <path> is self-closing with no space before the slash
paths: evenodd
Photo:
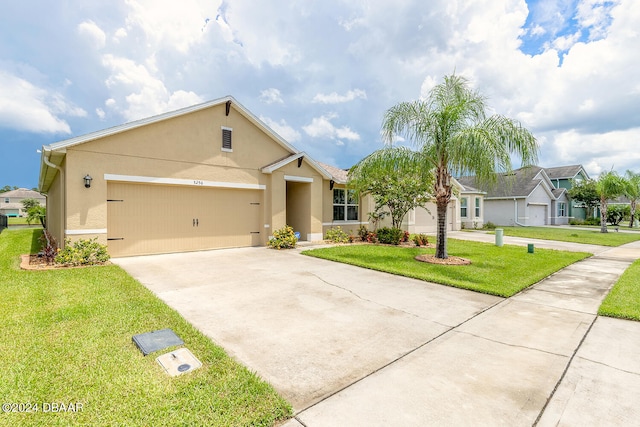
<path id="1" fill-rule="evenodd" d="M 477 187 L 475 177 L 462 177 L 465 186 Z M 531 166 L 498 176 L 484 196 L 484 221 L 496 225 L 564 225 L 569 222 L 569 198 L 556 188 L 544 168 Z"/>

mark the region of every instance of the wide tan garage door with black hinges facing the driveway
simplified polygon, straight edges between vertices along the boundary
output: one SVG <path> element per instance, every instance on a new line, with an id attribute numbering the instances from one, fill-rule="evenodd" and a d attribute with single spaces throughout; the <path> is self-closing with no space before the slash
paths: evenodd
<path id="1" fill-rule="evenodd" d="M 109 183 L 111 256 L 262 244 L 260 190 Z"/>

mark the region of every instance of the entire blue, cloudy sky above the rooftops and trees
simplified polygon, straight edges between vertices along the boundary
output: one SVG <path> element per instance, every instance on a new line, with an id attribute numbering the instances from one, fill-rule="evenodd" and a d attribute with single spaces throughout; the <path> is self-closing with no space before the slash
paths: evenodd
<path id="1" fill-rule="evenodd" d="M 0 187 L 37 187 L 42 145 L 226 95 L 348 168 L 454 72 L 540 166 L 640 172 L 639 32 L 638 0 L 3 1 Z"/>

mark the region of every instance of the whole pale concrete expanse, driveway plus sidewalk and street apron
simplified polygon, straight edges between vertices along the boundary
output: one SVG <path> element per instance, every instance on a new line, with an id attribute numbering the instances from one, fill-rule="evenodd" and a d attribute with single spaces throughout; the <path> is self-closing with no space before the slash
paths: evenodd
<path id="1" fill-rule="evenodd" d="M 297 250 L 114 262 L 273 384 L 287 427 L 633 424 L 640 322 L 596 312 L 640 243 L 594 249 L 509 299 Z"/>

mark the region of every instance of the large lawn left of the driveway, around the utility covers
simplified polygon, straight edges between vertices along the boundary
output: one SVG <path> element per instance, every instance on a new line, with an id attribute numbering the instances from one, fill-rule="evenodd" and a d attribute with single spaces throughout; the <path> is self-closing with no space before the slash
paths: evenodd
<path id="1" fill-rule="evenodd" d="M 0 425 L 270 426 L 291 416 L 271 386 L 120 267 L 19 270 L 40 233 L 0 233 L 0 403 L 40 405 L 2 413 Z M 167 350 L 143 357 L 131 341 L 164 328 L 202 368 L 169 377 L 155 361 Z M 60 403 L 82 408 L 43 412 Z"/>

